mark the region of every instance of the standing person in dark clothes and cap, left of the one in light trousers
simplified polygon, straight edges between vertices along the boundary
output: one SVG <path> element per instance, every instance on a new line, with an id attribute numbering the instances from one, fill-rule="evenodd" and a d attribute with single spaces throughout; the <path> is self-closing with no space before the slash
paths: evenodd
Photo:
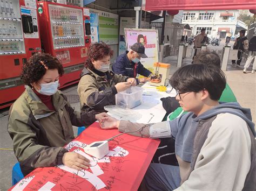
<path id="1" fill-rule="evenodd" d="M 247 40 L 247 37 L 245 37 L 245 30 L 241 30 L 239 33 L 240 33 L 240 37 L 238 37 L 235 40 L 233 49 L 239 49 L 242 51 L 242 52 L 238 51 L 238 53 L 237 53 L 237 58 L 238 58 L 237 65 L 240 66 L 240 63 L 242 61 L 242 53 L 245 51 L 244 41 Z M 232 66 L 236 67 L 237 65 L 235 64 L 235 60 L 232 60 Z"/>

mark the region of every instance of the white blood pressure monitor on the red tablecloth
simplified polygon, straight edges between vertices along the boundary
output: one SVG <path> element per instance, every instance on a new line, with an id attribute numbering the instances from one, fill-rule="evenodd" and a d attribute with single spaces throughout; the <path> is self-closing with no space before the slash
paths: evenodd
<path id="1" fill-rule="evenodd" d="M 100 142 L 93 142 L 84 148 L 85 153 L 92 155 L 98 159 L 103 158 L 109 153 L 109 142 L 107 140 Z"/>

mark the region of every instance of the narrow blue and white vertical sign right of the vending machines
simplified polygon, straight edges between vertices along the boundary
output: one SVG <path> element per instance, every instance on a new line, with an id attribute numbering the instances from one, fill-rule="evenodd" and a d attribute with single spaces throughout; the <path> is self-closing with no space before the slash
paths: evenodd
<path id="1" fill-rule="evenodd" d="M 98 13 L 90 12 L 91 24 L 91 43 L 99 42 L 99 15 Z"/>

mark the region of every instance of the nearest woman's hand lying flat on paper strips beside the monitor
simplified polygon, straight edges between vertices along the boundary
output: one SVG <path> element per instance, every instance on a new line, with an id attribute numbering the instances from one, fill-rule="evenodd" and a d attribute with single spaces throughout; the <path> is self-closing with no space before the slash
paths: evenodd
<path id="1" fill-rule="evenodd" d="M 66 152 L 62 157 L 62 162 L 64 165 L 78 171 L 88 169 L 91 166 L 89 159 L 75 152 Z"/>

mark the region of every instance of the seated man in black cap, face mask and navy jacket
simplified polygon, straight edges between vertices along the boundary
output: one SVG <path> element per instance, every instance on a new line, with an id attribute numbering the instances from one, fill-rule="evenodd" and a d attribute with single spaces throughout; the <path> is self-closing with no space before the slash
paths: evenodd
<path id="1" fill-rule="evenodd" d="M 136 77 L 137 74 L 145 77 L 151 77 L 150 70 L 144 68 L 140 63 L 140 58 L 147 58 L 145 54 L 145 47 L 141 43 L 135 43 L 131 46 L 130 51 L 117 57 L 115 63 L 113 63 L 112 70 L 116 74 L 122 74 L 124 76 Z M 145 78 L 136 79 L 137 83 L 145 83 Z"/>

